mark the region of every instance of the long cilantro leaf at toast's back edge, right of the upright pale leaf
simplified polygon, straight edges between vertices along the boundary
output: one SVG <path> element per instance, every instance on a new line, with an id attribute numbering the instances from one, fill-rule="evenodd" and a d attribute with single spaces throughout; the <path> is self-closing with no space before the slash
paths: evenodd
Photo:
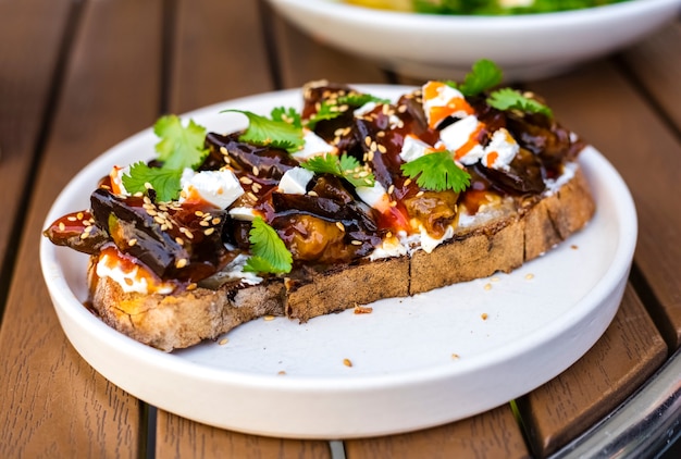
<path id="1" fill-rule="evenodd" d="M 242 113 L 248 117 L 248 128 L 239 136 L 240 141 L 282 148 L 288 152 L 298 151 L 305 145 L 302 128 L 290 123 L 270 120 L 245 110 L 223 110 L 224 112 Z"/>

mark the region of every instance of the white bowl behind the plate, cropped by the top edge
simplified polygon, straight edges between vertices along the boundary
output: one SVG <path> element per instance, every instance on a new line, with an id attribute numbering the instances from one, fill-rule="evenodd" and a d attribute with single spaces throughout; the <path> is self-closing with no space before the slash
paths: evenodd
<path id="1" fill-rule="evenodd" d="M 270 0 L 320 41 L 419 78 L 459 78 L 481 58 L 507 80 L 548 76 L 631 45 L 680 12 L 681 0 L 631 0 L 516 16 L 430 15 L 340 0 Z"/>

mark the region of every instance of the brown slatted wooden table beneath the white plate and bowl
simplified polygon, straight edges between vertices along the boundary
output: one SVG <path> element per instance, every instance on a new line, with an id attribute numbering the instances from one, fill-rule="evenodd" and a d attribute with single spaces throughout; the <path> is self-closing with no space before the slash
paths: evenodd
<path id="1" fill-rule="evenodd" d="M 605 335 L 513 404 L 404 435 L 277 439 L 157 411 L 76 353 L 38 263 L 46 212 L 71 177 L 162 113 L 322 77 L 419 83 L 314 41 L 262 1 L 0 0 L 0 457 L 538 458 L 579 448 L 608 454 L 624 441 L 626 452 L 645 444 L 647 433 L 645 448 L 661 448 L 673 437 L 673 390 L 681 383 L 671 358 L 681 344 L 681 21 L 616 55 L 523 84 L 619 170 L 636 202 L 640 235 Z M 670 368 L 656 374 L 664 365 Z M 578 438 L 632 394 L 639 395 L 607 429 Z M 648 412 L 653 420 L 636 419 Z M 631 423 L 648 430 L 627 430 Z"/>

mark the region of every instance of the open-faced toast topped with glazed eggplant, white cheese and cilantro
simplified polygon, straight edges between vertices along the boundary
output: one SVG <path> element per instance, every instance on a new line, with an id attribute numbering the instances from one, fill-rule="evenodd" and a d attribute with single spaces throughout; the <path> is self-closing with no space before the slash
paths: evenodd
<path id="1" fill-rule="evenodd" d="M 114 165 L 45 235 L 90 255 L 95 313 L 166 351 L 509 272 L 594 201 L 583 144 L 500 79 L 483 60 L 393 101 L 313 82 L 226 134 L 164 116 L 154 160 Z"/>

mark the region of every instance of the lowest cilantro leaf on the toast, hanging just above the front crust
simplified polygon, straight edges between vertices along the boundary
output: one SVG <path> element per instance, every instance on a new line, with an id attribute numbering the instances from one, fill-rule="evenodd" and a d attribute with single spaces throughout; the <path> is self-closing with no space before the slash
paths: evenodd
<path id="1" fill-rule="evenodd" d="M 281 274 L 290 272 L 293 256 L 278 237 L 276 231 L 256 216 L 248 234 L 252 257 L 248 259 L 244 271 L 251 273 Z"/>

